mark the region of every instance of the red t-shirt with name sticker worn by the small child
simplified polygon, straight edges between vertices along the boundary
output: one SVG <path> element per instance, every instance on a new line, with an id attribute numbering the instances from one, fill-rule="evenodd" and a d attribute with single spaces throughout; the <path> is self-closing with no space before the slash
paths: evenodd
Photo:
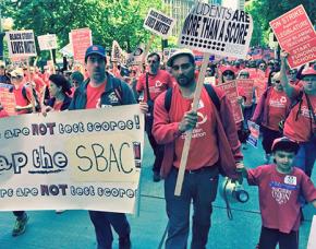
<path id="1" fill-rule="evenodd" d="M 248 183 L 259 188 L 263 226 L 282 233 L 299 230 L 299 195 L 311 202 L 316 199 L 316 189 L 302 169 L 293 167 L 291 174 L 281 174 L 276 167 L 262 165 L 247 170 Z"/>

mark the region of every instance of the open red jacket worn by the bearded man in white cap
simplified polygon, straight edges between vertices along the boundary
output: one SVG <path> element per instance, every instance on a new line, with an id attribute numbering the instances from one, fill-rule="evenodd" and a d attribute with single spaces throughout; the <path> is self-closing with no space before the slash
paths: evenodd
<path id="1" fill-rule="evenodd" d="M 179 87 L 178 85 L 173 86 Z M 220 170 L 230 178 L 238 178 L 235 173 L 235 162 L 243 159 L 241 153 L 241 143 L 238 139 L 236 127 L 232 115 L 230 100 L 226 97 L 223 91 L 215 87 L 220 99 L 220 112 L 215 111 L 218 123 L 218 149 Z M 161 164 L 160 175 L 166 178 L 172 168 L 174 156 L 174 140 L 180 135 L 178 131 L 179 122 L 170 122 L 169 112 L 165 109 L 166 92 L 160 94 L 155 102 L 153 134 L 159 144 L 165 144 L 165 155 Z M 177 107 L 177 103 L 172 103 L 171 107 Z M 216 108 L 214 106 L 214 108 Z M 172 119 L 171 119 L 172 120 Z"/>

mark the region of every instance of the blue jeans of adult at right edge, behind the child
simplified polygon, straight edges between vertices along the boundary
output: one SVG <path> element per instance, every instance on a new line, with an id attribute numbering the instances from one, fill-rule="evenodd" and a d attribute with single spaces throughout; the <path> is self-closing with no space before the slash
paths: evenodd
<path id="1" fill-rule="evenodd" d="M 312 176 L 316 159 L 316 138 L 312 141 L 300 143 L 300 150 L 294 158 L 294 166 L 301 168 L 308 177 Z"/>

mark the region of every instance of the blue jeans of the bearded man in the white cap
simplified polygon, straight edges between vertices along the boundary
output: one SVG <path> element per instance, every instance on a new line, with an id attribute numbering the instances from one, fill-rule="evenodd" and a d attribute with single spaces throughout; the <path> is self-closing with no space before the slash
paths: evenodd
<path id="1" fill-rule="evenodd" d="M 178 169 L 172 168 L 165 180 L 165 197 L 169 217 L 166 249 L 185 249 L 190 228 L 190 205 L 193 200 L 192 249 L 206 247 L 210 227 L 211 203 L 218 186 L 218 167 L 206 167 L 197 173 L 185 171 L 182 192 L 174 195 Z"/>

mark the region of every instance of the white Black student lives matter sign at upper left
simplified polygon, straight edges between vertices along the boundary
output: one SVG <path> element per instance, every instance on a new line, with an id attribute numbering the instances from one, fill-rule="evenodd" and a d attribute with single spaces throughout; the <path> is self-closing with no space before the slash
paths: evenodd
<path id="1" fill-rule="evenodd" d="M 5 32 L 9 57 L 36 57 L 36 45 L 33 31 Z"/>

